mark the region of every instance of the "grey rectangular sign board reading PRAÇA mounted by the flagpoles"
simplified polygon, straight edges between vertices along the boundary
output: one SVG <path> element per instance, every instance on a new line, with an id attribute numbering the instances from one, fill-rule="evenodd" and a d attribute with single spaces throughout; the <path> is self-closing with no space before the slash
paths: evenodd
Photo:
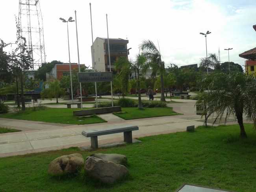
<path id="1" fill-rule="evenodd" d="M 112 72 L 78 73 L 78 82 L 113 81 Z"/>

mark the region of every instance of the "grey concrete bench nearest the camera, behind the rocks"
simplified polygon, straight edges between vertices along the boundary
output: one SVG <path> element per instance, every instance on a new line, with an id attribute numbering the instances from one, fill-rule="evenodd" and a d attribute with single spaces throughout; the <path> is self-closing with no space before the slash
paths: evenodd
<path id="1" fill-rule="evenodd" d="M 124 133 L 124 142 L 132 143 L 132 131 L 139 130 L 138 126 L 122 126 L 116 127 L 113 129 L 104 129 L 104 130 L 91 130 L 91 131 L 82 131 L 82 135 L 85 137 L 91 137 L 91 148 L 98 148 L 98 136 L 100 135 L 109 135 L 114 133 Z"/>

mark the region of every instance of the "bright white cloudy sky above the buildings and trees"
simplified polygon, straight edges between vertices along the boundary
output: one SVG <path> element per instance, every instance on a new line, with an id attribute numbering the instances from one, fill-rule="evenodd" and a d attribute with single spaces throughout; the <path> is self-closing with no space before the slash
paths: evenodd
<path id="1" fill-rule="evenodd" d="M 39 0 L 43 16 L 46 62 L 68 63 L 67 26 L 59 17 L 74 18 L 77 11 L 80 63 L 91 66 L 92 6 L 93 39 L 107 37 L 128 39 L 130 58 L 139 53 L 139 44 L 150 39 L 159 43 L 162 60 L 169 66 L 200 63 L 206 56 L 205 37 L 200 32 L 211 31 L 207 36 L 208 54 L 218 54 L 221 62 L 244 65 L 238 55 L 256 47 L 255 0 Z M 0 0 L 0 39 L 15 42 L 15 15 L 19 13 L 19 0 Z M 75 22 L 69 23 L 70 61 L 78 63 Z M 244 68 L 244 67 L 243 67 Z"/>

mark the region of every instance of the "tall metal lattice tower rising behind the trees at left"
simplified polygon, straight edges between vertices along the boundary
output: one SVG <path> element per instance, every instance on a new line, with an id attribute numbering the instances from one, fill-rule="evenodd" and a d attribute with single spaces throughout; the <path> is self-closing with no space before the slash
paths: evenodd
<path id="1" fill-rule="evenodd" d="M 45 63 L 43 17 L 39 0 L 19 0 L 19 22 L 22 37 L 32 50 L 33 69 Z"/>

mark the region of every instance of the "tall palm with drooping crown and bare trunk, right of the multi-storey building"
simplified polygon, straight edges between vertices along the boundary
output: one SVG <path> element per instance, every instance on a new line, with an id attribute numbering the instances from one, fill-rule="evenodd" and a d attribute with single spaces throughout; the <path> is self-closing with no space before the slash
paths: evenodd
<path id="1" fill-rule="evenodd" d="M 150 40 L 144 40 L 140 44 L 141 50 L 143 50 L 143 55 L 150 61 L 150 68 L 153 71 L 158 71 L 160 73 L 161 79 L 161 101 L 165 102 L 164 95 L 164 82 L 163 82 L 163 74 L 165 71 L 165 64 L 161 60 L 160 50 L 156 47 L 156 45 Z"/>

